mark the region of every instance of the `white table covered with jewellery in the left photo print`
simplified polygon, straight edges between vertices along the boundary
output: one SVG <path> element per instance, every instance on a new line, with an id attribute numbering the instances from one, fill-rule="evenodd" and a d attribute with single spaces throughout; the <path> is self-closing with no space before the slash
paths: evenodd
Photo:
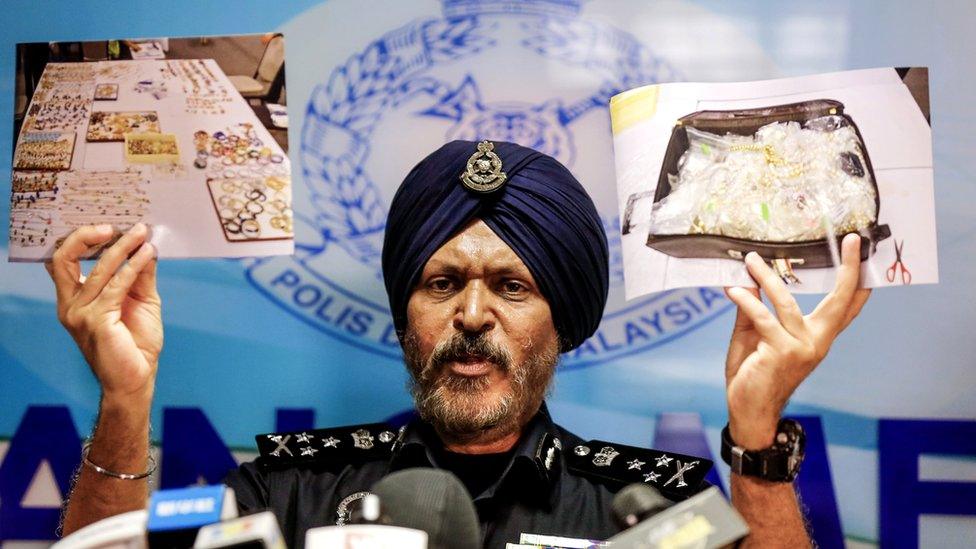
<path id="1" fill-rule="evenodd" d="M 288 156 L 212 59 L 48 64 L 15 147 L 11 261 L 98 223 L 161 257 L 294 249 Z"/>

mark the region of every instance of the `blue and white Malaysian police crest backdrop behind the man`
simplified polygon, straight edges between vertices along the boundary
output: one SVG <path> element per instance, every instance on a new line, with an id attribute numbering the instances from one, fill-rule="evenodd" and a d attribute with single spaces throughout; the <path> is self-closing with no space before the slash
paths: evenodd
<path id="1" fill-rule="evenodd" d="M 166 347 L 153 438 L 164 485 L 219 480 L 233 465 L 227 448 L 246 457 L 258 432 L 410 408 L 379 244 L 395 185 L 455 137 L 553 154 L 593 194 L 611 235 L 610 304 L 599 333 L 563 360 L 550 398 L 556 418 L 586 438 L 717 456 L 730 304 L 712 289 L 623 300 L 609 96 L 672 80 L 929 66 L 942 283 L 876 292 L 788 411 L 811 433 L 801 489 L 823 546 L 842 535 L 909 547 L 976 537 L 976 300 L 967 289 L 976 280 L 974 5 L 180 0 L 161 11 L 151 2 L 14 0 L 3 8 L 0 128 L 12 127 L 18 42 L 285 33 L 297 252 L 160 265 Z M 10 147 L 11 132 L 0 131 L 0 158 Z M 9 191 L 9 166 L 0 162 L 0 193 Z M 4 256 L 8 215 L 0 210 Z M 57 322 L 42 267 L 3 261 L 0 281 L 0 542 L 45 540 L 98 389 Z"/>

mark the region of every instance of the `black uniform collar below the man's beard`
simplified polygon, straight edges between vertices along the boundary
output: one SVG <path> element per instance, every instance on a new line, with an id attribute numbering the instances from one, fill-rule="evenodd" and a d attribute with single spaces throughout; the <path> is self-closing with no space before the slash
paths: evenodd
<path id="1" fill-rule="evenodd" d="M 563 470 L 564 441 L 560 435 L 543 402 L 536 415 L 526 424 L 500 478 L 475 501 L 491 499 L 500 490 L 512 489 L 519 497 L 538 499 L 553 505 L 556 497 L 554 487 Z M 390 460 L 390 471 L 437 467 L 433 450 L 442 445 L 433 427 L 419 418 L 415 419 L 400 429 Z"/>

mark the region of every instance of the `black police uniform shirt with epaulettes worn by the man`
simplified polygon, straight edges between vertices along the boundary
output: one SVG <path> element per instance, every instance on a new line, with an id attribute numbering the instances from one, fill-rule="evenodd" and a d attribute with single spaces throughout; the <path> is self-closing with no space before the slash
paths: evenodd
<path id="1" fill-rule="evenodd" d="M 556 425 L 545 404 L 505 455 L 463 456 L 443 449 L 421 420 L 397 434 L 385 424 L 259 435 L 261 452 L 224 481 L 242 513 L 274 511 L 289 547 L 305 531 L 345 523 L 370 487 L 393 471 L 439 467 L 472 492 L 485 547 L 518 543 L 523 533 L 606 539 L 615 534 L 610 502 L 644 482 L 680 500 L 707 483 L 712 462 L 599 440 Z M 470 459 L 469 459 L 470 458 Z"/>

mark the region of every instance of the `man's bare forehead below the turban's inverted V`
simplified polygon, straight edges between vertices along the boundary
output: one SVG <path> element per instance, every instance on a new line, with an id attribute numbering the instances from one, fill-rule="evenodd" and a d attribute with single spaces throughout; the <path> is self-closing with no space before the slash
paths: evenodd
<path id="1" fill-rule="evenodd" d="M 528 267 L 512 248 L 481 219 L 468 223 L 427 260 L 429 269 L 487 269 L 531 277 Z"/>

